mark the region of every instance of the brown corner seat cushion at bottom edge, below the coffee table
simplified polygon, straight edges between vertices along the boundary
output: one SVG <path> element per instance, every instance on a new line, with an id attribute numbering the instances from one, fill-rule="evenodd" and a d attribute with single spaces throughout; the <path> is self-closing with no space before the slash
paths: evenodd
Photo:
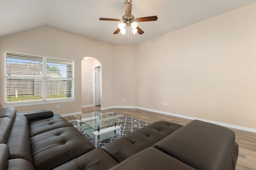
<path id="1" fill-rule="evenodd" d="M 54 168 L 54 170 L 108 170 L 117 164 L 118 162 L 104 150 L 94 149 Z"/>

